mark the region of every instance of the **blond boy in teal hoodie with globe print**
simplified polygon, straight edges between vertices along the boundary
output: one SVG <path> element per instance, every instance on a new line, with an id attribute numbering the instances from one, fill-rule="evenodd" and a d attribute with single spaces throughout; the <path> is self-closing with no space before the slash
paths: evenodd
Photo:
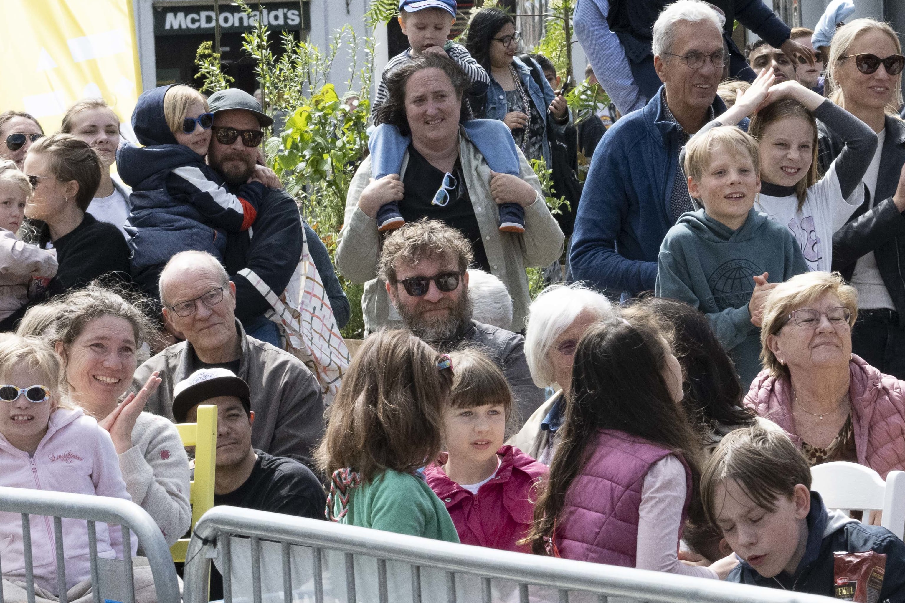
<path id="1" fill-rule="evenodd" d="M 747 385 L 761 369 L 764 302 L 778 283 L 807 272 L 805 257 L 784 225 L 753 209 L 760 191 L 754 138 L 734 126 L 702 132 L 685 147 L 685 174 L 703 209 L 683 213 L 666 233 L 656 294 L 706 314 Z"/>

